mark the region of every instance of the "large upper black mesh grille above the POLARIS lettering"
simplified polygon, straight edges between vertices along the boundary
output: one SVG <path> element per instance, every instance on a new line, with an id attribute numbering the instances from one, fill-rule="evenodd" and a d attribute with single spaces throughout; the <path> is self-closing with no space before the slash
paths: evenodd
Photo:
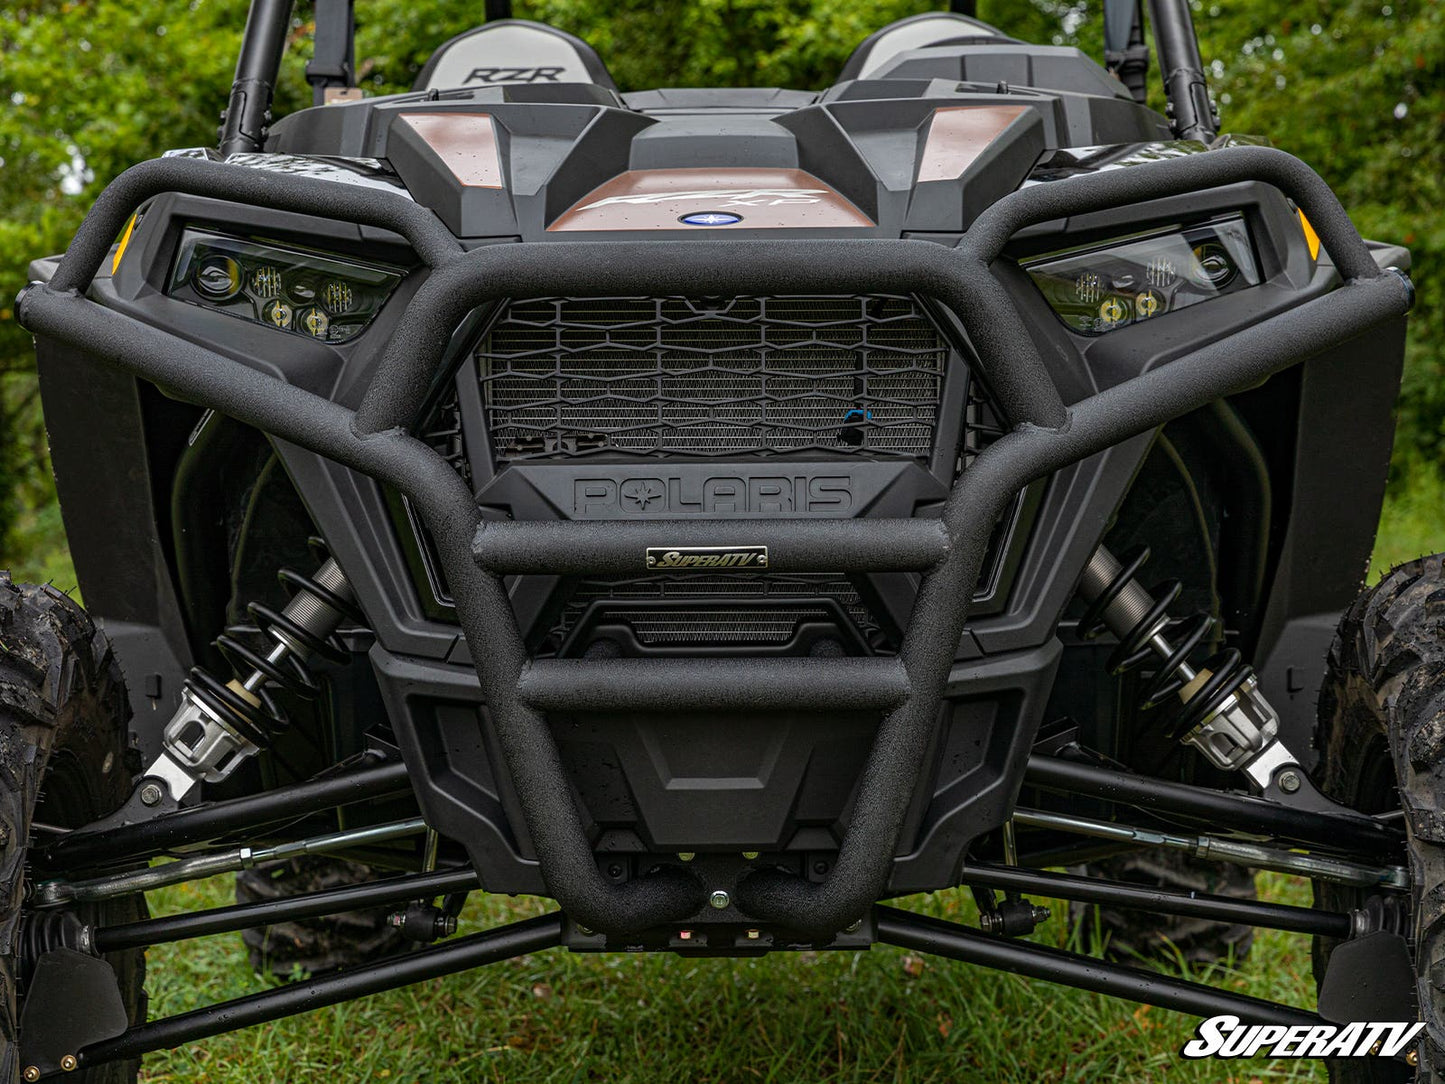
<path id="1" fill-rule="evenodd" d="M 906 296 L 536 298 L 487 332 L 499 461 L 932 451 L 948 347 Z"/>

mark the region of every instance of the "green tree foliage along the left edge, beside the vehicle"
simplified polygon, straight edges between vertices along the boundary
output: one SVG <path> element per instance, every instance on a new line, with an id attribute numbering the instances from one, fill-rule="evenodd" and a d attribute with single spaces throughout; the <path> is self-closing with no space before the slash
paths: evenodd
<path id="1" fill-rule="evenodd" d="M 58 528 L 30 338 L 12 298 L 116 173 L 215 140 L 244 17 L 244 0 L 0 7 L 0 554 L 35 549 Z M 283 108 L 303 104 L 299 65 L 288 62 Z"/>

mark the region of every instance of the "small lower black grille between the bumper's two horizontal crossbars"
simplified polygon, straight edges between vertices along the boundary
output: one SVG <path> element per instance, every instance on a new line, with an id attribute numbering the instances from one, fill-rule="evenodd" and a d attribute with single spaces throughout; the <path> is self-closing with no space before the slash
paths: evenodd
<path id="1" fill-rule="evenodd" d="M 584 580 L 552 626 L 551 650 L 566 643 L 592 603 L 600 603 L 594 624 L 624 624 L 644 648 L 776 648 L 802 624 L 837 623 L 840 610 L 870 645 L 881 637 L 848 580 L 734 572 Z"/>

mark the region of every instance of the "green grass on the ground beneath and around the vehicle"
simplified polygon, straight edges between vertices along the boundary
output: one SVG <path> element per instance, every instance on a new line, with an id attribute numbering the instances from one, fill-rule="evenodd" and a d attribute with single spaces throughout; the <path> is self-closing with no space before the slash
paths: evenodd
<path id="1" fill-rule="evenodd" d="M 75 585 L 53 506 L 25 513 L 20 580 Z M 1445 483 L 1416 478 L 1386 503 L 1371 581 L 1445 549 Z M 1273 900 L 1308 883 L 1260 877 Z M 153 893 L 156 913 L 220 906 L 220 877 Z M 540 913 L 543 900 L 483 898 L 462 932 Z M 961 892 L 905 902 L 968 921 Z M 1065 913 L 1055 903 L 1055 915 Z M 1064 945 L 1066 922 L 1035 939 Z M 1261 931 L 1238 970 L 1192 976 L 1256 997 L 1314 1005 L 1309 939 Z M 264 989 L 236 935 L 150 954 L 152 1016 Z M 1095 994 L 879 947 L 760 960 L 552 951 L 377 994 L 146 1058 L 147 1081 L 1276 1081 L 1324 1080 L 1316 1062 L 1191 1062 L 1195 1020 Z"/>

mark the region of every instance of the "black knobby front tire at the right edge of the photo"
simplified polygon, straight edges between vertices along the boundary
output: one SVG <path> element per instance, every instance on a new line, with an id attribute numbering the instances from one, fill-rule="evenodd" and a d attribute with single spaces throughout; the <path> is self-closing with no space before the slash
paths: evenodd
<path id="1" fill-rule="evenodd" d="M 1342 1084 L 1445 1080 L 1445 994 L 1429 981 L 1445 964 L 1445 558 L 1390 571 L 1350 607 L 1319 694 L 1319 789 L 1366 814 L 1405 811 L 1412 889 L 1405 934 L 1413 942 L 1416 996 L 1428 1041 L 1419 1071 L 1377 1058 L 1337 1059 Z M 1403 856 L 1402 856 L 1403 857 Z M 1315 882 L 1315 905 L 1355 911 L 1370 889 Z M 1379 893 L 1396 898 L 1405 893 Z M 1379 900 L 1376 900 L 1379 903 Z M 1315 938 L 1315 981 L 1338 945 Z"/>

